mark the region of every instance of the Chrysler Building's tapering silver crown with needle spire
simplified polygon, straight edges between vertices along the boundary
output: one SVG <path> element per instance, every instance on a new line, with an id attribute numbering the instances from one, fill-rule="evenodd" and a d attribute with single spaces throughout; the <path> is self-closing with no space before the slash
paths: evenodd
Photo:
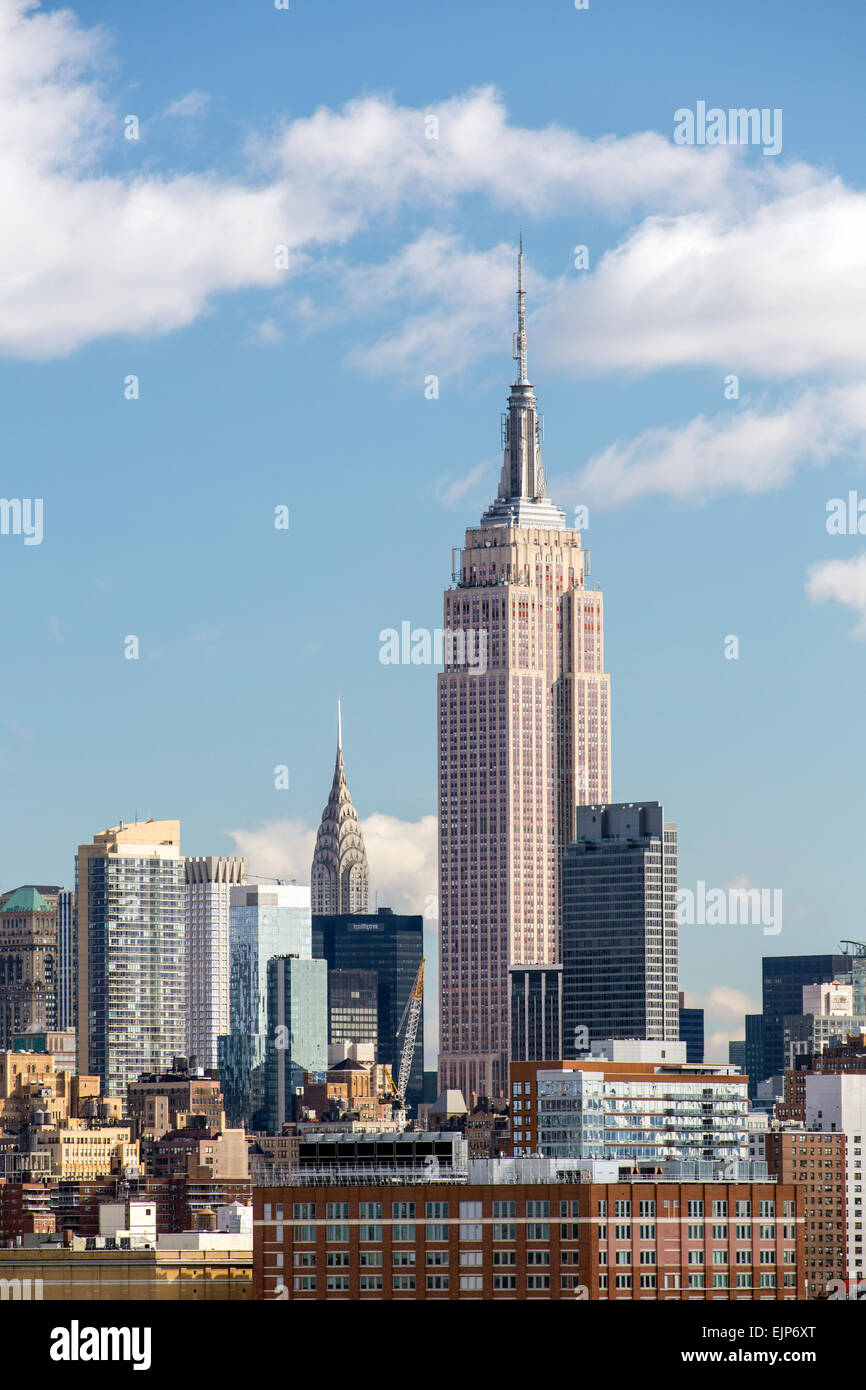
<path id="1" fill-rule="evenodd" d="M 346 783 L 339 701 L 336 764 L 328 805 L 322 810 L 316 837 L 310 883 L 314 913 L 370 910 L 370 867 L 357 812 L 352 805 Z"/>

